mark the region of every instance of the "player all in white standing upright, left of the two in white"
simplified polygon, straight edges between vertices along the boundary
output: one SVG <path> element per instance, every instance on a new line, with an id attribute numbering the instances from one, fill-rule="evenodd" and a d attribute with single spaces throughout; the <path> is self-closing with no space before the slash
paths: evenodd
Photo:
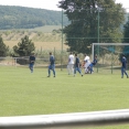
<path id="1" fill-rule="evenodd" d="M 68 56 L 67 71 L 68 71 L 68 75 L 69 74 L 74 75 L 74 55 L 73 55 L 73 53 L 71 53 Z"/>

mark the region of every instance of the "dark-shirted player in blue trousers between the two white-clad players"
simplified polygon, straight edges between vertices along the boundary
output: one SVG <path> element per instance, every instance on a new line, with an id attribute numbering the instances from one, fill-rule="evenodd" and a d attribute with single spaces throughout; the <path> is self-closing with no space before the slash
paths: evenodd
<path id="1" fill-rule="evenodd" d="M 79 67 L 80 67 L 79 58 L 77 57 L 77 54 L 75 54 L 74 76 L 76 74 L 76 71 L 83 76 Z"/>

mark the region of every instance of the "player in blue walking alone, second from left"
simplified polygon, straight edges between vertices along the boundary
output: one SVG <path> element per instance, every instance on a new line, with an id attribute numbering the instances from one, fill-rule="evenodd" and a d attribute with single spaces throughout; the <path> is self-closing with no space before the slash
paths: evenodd
<path id="1" fill-rule="evenodd" d="M 49 65 L 49 76 L 51 76 L 51 71 L 53 71 L 53 75 L 55 77 L 55 58 L 54 55 L 52 55 L 52 53 L 50 53 L 50 65 Z"/>

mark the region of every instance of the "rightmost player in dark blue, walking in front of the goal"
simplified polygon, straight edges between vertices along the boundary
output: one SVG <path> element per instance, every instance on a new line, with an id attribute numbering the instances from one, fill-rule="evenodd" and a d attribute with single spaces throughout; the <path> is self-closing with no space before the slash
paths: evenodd
<path id="1" fill-rule="evenodd" d="M 128 73 L 126 72 L 126 67 L 127 67 L 127 58 L 122 54 L 122 57 L 121 57 L 121 78 L 123 78 L 123 74 L 126 74 L 127 78 L 129 78 Z"/>

